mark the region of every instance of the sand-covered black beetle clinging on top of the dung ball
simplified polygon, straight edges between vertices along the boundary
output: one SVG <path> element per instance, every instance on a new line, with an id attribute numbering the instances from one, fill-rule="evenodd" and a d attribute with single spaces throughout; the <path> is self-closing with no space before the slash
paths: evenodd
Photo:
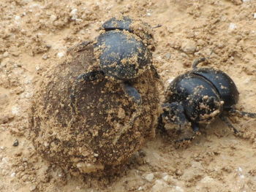
<path id="1" fill-rule="evenodd" d="M 70 95 L 71 101 L 75 101 L 76 86 L 80 82 L 97 82 L 102 76 L 106 76 L 110 80 L 120 81 L 124 93 L 140 105 L 140 93 L 132 87 L 129 80 L 139 77 L 148 69 L 153 70 L 159 78 L 157 70 L 152 65 L 150 50 L 154 50 L 154 42 L 151 27 L 122 16 L 111 18 L 103 23 L 102 28 L 103 33 L 94 43 L 94 54 L 98 58 L 99 66 L 78 76 Z M 90 43 L 86 42 L 82 47 Z"/>

